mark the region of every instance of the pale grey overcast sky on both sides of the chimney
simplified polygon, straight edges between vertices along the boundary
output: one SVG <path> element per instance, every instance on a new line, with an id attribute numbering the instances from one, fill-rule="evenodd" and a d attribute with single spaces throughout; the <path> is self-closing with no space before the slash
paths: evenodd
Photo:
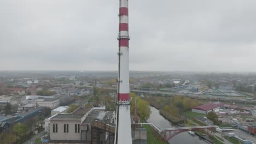
<path id="1" fill-rule="evenodd" d="M 118 70 L 118 0 L 1 0 L 0 70 Z M 255 0 L 129 0 L 130 69 L 256 71 Z"/>

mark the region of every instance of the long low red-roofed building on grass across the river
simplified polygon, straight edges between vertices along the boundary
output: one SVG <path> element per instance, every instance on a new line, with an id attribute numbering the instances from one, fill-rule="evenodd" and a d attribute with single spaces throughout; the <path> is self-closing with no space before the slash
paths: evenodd
<path id="1" fill-rule="evenodd" d="M 224 104 L 220 102 L 208 103 L 192 108 L 192 112 L 207 114 L 210 111 L 220 109 Z"/>

